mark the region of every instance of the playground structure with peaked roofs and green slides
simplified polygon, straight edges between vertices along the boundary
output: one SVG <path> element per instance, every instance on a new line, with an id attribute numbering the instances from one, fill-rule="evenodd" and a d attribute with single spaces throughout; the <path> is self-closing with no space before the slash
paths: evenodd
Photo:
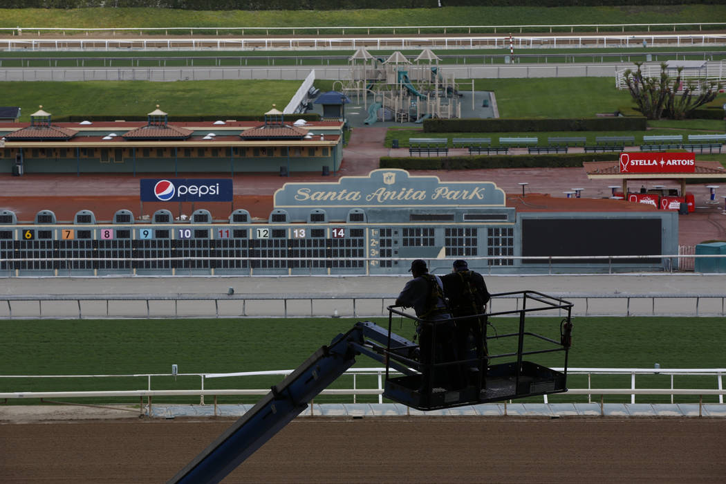
<path id="1" fill-rule="evenodd" d="M 367 125 L 377 120 L 422 123 L 427 118 L 461 118 L 457 83 L 453 75 L 441 72 L 439 60 L 431 49 L 411 62 L 398 51 L 384 60 L 360 48 L 349 59 L 348 78 L 335 81 L 333 89 L 362 100 Z"/>

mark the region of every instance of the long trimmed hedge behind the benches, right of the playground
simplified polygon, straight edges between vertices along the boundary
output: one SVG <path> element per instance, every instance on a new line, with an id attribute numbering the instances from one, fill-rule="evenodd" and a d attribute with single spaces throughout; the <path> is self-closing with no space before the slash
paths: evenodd
<path id="1" fill-rule="evenodd" d="M 524 133 L 527 131 L 645 131 L 643 117 L 582 119 L 427 119 L 427 133 Z"/>

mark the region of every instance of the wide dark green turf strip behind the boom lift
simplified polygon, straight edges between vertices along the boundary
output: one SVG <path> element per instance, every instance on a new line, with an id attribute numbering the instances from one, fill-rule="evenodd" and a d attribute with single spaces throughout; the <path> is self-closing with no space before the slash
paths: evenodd
<path id="1" fill-rule="evenodd" d="M 537 332 L 558 332 L 559 319 L 529 320 Z M 353 319 L 123 319 L 123 320 L 23 320 L 0 321 L 4 335 L 4 358 L 0 374 L 139 374 L 166 373 L 171 364 L 181 373 L 252 372 L 294 369 L 314 350 L 330 343 L 354 324 Z M 387 320 L 378 320 L 385 325 Z M 489 336 L 510 332 L 516 319 L 493 319 Z M 721 318 L 577 318 L 570 367 L 718 368 L 724 366 Z M 544 328 L 544 330 L 540 329 Z M 411 338 L 413 327 L 395 321 L 394 331 Z M 490 343 L 492 353 L 504 348 L 500 340 Z M 499 345 L 499 346 L 497 346 Z M 532 358 L 535 360 L 535 358 Z M 535 361 L 563 366 L 562 353 L 550 353 Z M 360 356 L 356 366 L 380 364 Z M 668 385 L 664 375 L 638 378 L 638 386 Z M 267 388 L 281 377 L 207 380 L 205 387 Z M 665 381 L 665 383 L 664 383 Z M 587 385 L 587 377 L 572 375 L 571 387 Z M 372 385 L 372 378 L 358 385 Z M 145 377 L 135 379 L 0 379 L 0 391 L 31 390 L 120 390 L 140 389 Z M 154 377 L 152 388 L 199 387 L 198 377 Z M 335 387 L 351 387 L 338 381 Z M 593 387 L 629 387 L 629 376 L 593 377 Z M 716 387 L 714 377 L 680 377 L 676 387 Z M 563 397 L 557 397 L 563 398 Z M 655 397 L 653 397 L 655 398 Z M 648 401 L 653 401 L 648 397 Z M 345 401 L 317 398 L 316 401 Z M 620 401 L 627 401 L 622 398 Z M 194 401 L 187 398 L 176 401 Z M 239 398 L 227 401 L 240 401 Z M 253 402 L 256 398 L 242 399 Z M 359 399 L 360 401 L 360 399 Z M 541 398 L 539 398 L 541 401 Z M 579 401 L 584 401 L 581 397 Z M 608 398 L 608 401 L 618 401 Z M 694 401 L 682 398 L 680 401 Z M 696 398 L 697 401 L 697 398 Z M 711 401 L 711 400 L 709 400 Z M 12 401 L 15 404 L 18 401 Z M 28 401 L 33 403 L 33 401 Z M 37 402 L 35 402 L 37 403 Z M 136 402 L 134 402 L 136 403 Z"/>

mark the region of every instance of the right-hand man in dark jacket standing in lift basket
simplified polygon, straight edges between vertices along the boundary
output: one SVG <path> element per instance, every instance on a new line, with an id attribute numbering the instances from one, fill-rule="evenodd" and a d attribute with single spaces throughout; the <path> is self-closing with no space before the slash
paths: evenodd
<path id="1" fill-rule="evenodd" d="M 463 365 L 465 369 L 476 367 L 476 371 L 466 372 L 470 384 L 481 385 L 486 372 L 486 303 L 489 303 L 489 291 L 486 290 L 484 277 L 476 271 L 470 271 L 468 263 L 461 259 L 454 261 L 450 274 L 441 276 L 444 283 L 444 295 L 449 299 L 449 308 L 456 319 L 455 339 L 457 354 L 462 360 L 476 358 Z M 471 317 L 465 317 L 471 316 Z M 476 350 L 476 353 L 475 353 Z"/>

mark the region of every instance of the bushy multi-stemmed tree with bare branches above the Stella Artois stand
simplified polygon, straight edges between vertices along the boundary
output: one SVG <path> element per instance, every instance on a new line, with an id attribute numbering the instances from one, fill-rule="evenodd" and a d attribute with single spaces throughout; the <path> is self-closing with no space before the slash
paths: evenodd
<path id="1" fill-rule="evenodd" d="M 674 78 L 668 74 L 665 63 L 661 63 L 658 78 L 646 77 L 640 70 L 643 62 L 635 62 L 637 70 L 625 71 L 625 84 L 637 104 L 637 110 L 648 119 L 684 119 L 697 107 L 714 99 L 722 89 L 722 84 L 714 81 L 683 81 L 678 67 Z"/>

